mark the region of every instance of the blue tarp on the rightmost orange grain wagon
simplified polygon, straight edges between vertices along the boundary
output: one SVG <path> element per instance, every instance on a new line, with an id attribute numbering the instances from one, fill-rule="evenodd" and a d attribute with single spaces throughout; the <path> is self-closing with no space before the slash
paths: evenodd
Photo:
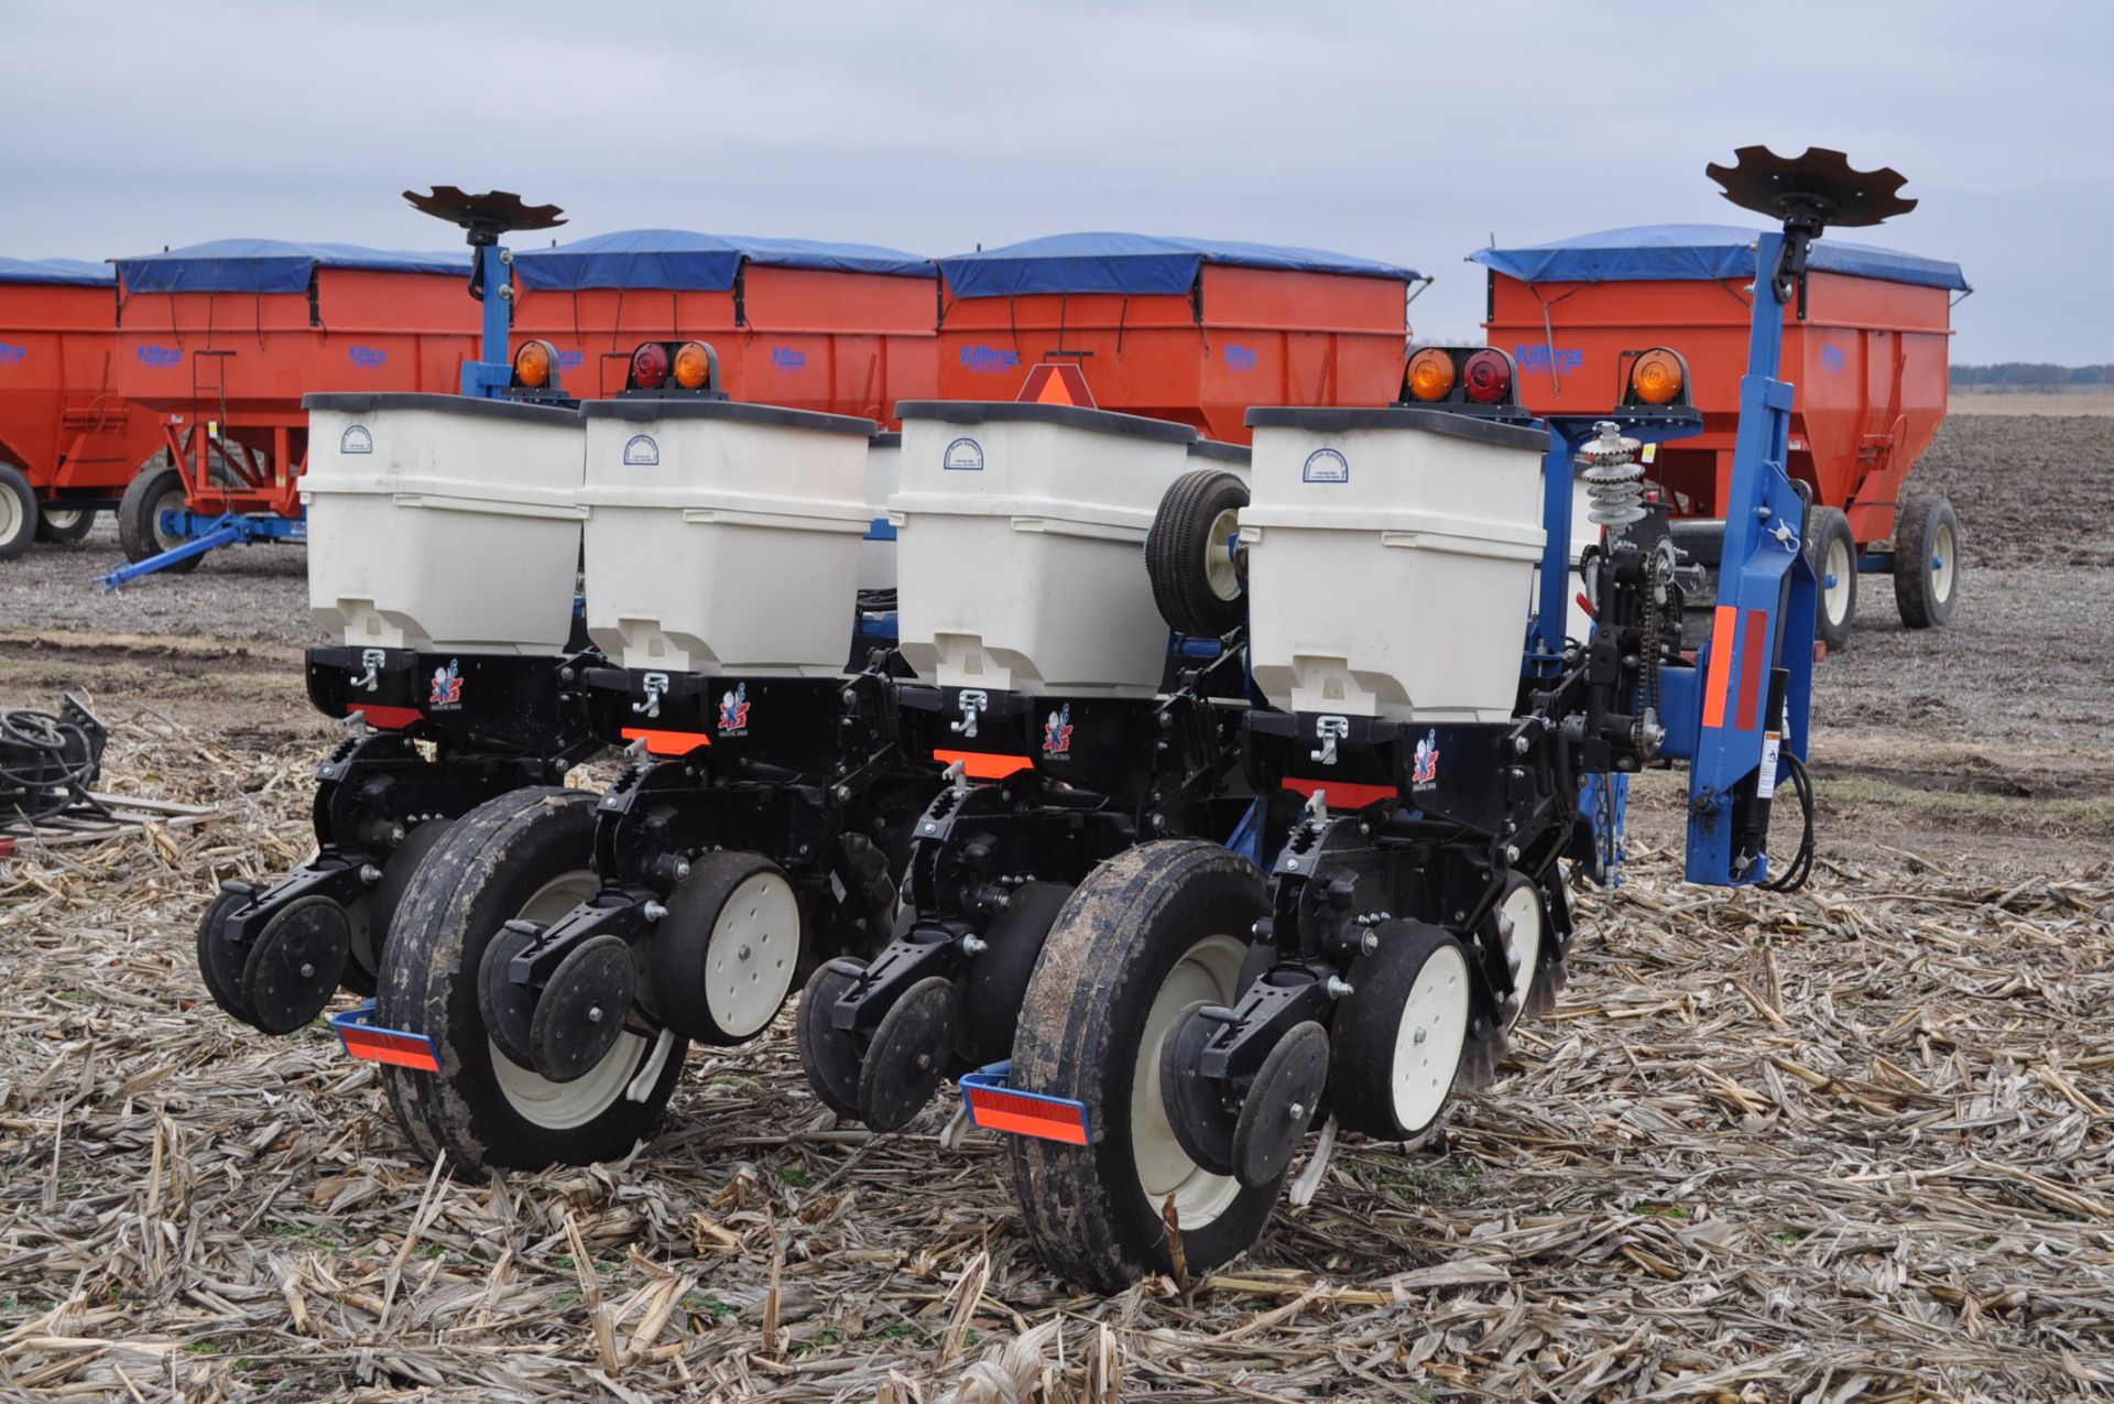
<path id="1" fill-rule="evenodd" d="M 1640 283 L 1755 277 L 1755 235 L 1738 224 L 1636 224 L 1524 250 L 1476 250 L 1473 262 L 1526 283 Z M 1807 266 L 1917 288 L 1966 292 L 1960 264 L 1835 237 L 1814 241 Z"/>

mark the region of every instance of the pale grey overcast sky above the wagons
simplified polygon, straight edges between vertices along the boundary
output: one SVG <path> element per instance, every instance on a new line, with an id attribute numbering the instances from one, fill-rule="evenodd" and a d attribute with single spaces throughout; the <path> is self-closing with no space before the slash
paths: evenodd
<path id="1" fill-rule="evenodd" d="M 484 23 L 471 15 L 486 17 Z M 605 17 L 607 15 L 607 17 Z M 1120 228 L 1438 275 L 1490 235 L 1725 222 L 1702 167 L 1837 146 L 1958 260 L 1953 359 L 2114 359 L 2114 4 L 0 2 L 0 254 L 444 247 L 397 192 L 953 254 Z"/>

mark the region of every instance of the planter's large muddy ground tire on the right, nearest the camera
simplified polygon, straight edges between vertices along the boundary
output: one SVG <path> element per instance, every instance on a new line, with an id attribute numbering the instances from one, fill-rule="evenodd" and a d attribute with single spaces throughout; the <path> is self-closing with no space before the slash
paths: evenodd
<path id="1" fill-rule="evenodd" d="M 1084 1102 L 1093 1144 L 1013 1138 L 1010 1163 L 1027 1237 L 1063 1277 L 1120 1292 L 1144 1273 L 1171 1271 L 1167 1193 L 1190 1201 L 1182 1248 L 1192 1273 L 1262 1235 L 1279 1186 L 1241 1188 L 1182 1152 L 1158 1110 L 1158 1038 L 1197 998 L 1232 1002 L 1249 932 L 1266 911 L 1251 863 L 1216 844 L 1167 839 L 1104 863 L 1057 918 L 1013 1038 L 1013 1085 Z M 1158 1038 L 1148 1038 L 1148 1021 Z M 1133 1125 L 1133 1097 L 1156 1127 Z M 1150 1171 L 1139 1169 L 1139 1131 Z"/>

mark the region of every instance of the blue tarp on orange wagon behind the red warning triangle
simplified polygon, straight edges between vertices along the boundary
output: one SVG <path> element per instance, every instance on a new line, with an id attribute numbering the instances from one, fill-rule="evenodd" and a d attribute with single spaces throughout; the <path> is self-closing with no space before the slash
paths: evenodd
<path id="1" fill-rule="evenodd" d="M 1203 264 L 1351 273 L 1412 281 L 1412 269 L 1273 243 L 1222 239 L 1158 239 L 1154 235 L 1051 235 L 1002 250 L 941 258 L 939 271 L 958 298 L 1015 298 L 1038 292 L 1186 294 Z"/>

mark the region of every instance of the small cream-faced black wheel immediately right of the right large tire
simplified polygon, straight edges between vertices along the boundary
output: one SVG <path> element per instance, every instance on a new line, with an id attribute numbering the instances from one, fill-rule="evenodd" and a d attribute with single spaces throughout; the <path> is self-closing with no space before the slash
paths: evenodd
<path id="1" fill-rule="evenodd" d="M 1446 1110 L 1469 1038 L 1467 952 L 1423 922 L 1380 922 L 1330 1028 L 1330 1106 L 1347 1131 L 1416 1140 Z"/>

